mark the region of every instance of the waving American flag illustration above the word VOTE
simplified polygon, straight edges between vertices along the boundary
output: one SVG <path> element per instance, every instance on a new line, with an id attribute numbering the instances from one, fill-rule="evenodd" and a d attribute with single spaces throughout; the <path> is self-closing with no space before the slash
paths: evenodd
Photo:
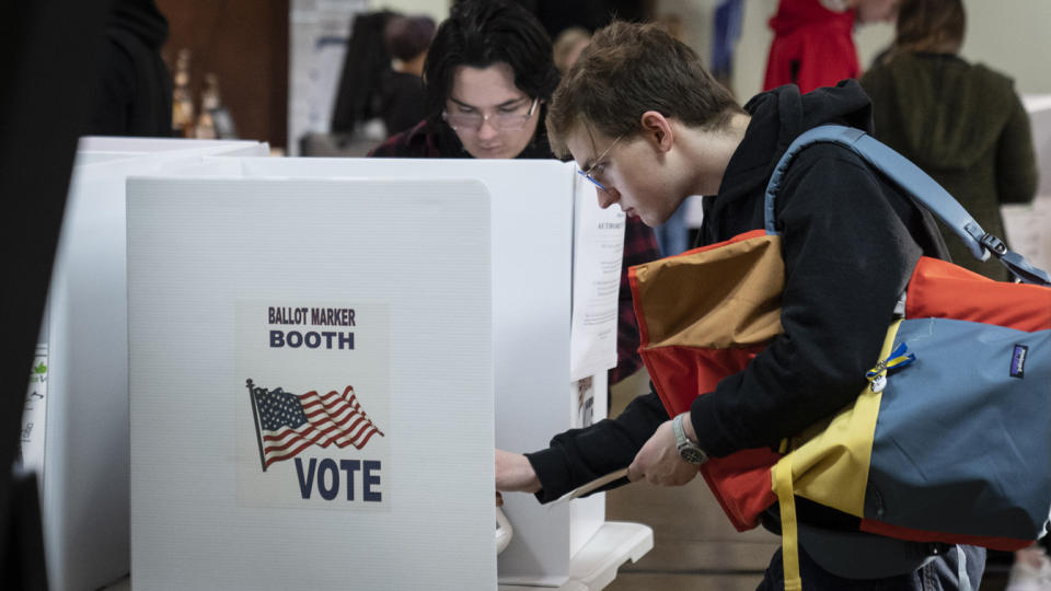
<path id="1" fill-rule="evenodd" d="M 247 380 L 263 470 L 289 460 L 311 445 L 361 449 L 372 436 L 383 437 L 366 415 L 353 386 L 319 394 L 292 394 L 280 387 L 257 387 Z"/>

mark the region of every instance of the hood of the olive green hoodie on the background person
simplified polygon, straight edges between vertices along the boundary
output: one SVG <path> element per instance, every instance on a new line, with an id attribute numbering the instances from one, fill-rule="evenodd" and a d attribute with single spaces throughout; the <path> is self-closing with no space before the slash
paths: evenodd
<path id="1" fill-rule="evenodd" d="M 880 105 L 876 136 L 924 170 L 978 162 L 1015 101 L 1010 79 L 948 54 L 899 54 L 874 66 L 862 84 Z"/>

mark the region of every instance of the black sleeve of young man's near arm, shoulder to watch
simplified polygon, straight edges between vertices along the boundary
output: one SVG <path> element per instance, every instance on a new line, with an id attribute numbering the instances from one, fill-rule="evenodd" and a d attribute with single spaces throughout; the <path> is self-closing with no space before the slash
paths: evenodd
<path id="1" fill-rule="evenodd" d="M 784 333 L 694 401 L 691 417 L 709 454 L 776 445 L 864 387 L 921 254 L 909 228 L 922 213 L 888 187 L 843 148 L 797 155 L 777 199 Z"/>

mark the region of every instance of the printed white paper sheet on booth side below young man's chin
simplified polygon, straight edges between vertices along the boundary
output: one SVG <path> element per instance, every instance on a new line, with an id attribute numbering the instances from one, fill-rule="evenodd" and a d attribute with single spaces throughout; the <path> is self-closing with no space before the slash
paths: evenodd
<path id="1" fill-rule="evenodd" d="M 599 207 L 594 186 L 574 175 L 573 320 L 569 379 L 616 366 L 616 316 L 624 259 L 620 207 Z"/>

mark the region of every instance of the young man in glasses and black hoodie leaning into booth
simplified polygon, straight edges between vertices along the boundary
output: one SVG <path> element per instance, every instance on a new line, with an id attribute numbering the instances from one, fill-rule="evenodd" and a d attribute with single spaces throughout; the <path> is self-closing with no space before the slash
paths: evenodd
<path id="1" fill-rule="evenodd" d="M 806 95 L 782 86 L 742 108 L 692 49 L 652 25 L 625 23 L 594 35 L 547 115 L 555 153 L 576 160 L 603 207 L 616 204 L 656 225 L 688 196 L 705 195 L 702 245 L 763 229 L 775 164 L 796 137 L 823 124 L 870 128 L 871 105 L 856 82 Z M 799 152 L 776 204 L 783 334 L 672 420 L 650 392 L 615 419 L 555 436 L 545 450 L 497 450 L 498 491 L 547 502 L 625 467 L 611 486 L 683 485 L 707 457 L 776 449 L 853 402 L 916 260 L 944 258 L 945 244 L 928 213 L 836 144 Z M 704 290 L 696 285 L 696 297 Z M 981 579 L 982 548 L 838 529 L 838 515 L 806 509 L 800 517 L 805 589 L 977 589 Z M 762 524 L 779 532 L 776 507 Z M 778 549 L 760 589 L 783 587 Z"/>

